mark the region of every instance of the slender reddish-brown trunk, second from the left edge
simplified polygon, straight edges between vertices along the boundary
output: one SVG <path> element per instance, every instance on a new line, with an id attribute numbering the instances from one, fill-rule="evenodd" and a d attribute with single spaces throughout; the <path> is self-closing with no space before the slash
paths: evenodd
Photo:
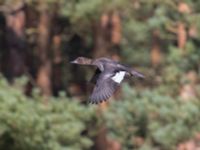
<path id="1" fill-rule="evenodd" d="M 37 84 L 41 88 L 42 94 L 48 98 L 51 95 L 51 61 L 49 58 L 51 16 L 45 7 L 45 2 L 41 1 L 40 6 L 44 8 L 40 11 L 38 25 L 37 53 L 40 66 L 37 74 Z"/>

